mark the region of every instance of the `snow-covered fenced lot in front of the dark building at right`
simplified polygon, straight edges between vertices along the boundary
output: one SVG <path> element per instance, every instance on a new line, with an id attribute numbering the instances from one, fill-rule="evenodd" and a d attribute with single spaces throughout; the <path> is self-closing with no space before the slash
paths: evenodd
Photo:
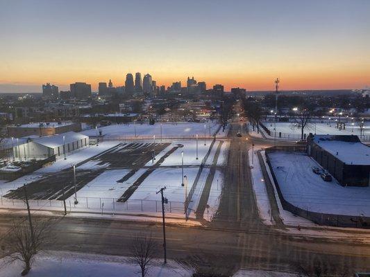
<path id="1" fill-rule="evenodd" d="M 294 206 L 318 213 L 370 216 L 370 187 L 323 181 L 311 169 L 318 163 L 305 154 L 273 152 L 269 159 L 284 198 Z"/>

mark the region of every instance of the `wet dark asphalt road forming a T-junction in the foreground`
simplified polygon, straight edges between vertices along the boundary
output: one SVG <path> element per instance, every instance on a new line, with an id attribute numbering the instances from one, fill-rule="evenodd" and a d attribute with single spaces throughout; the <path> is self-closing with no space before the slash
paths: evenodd
<path id="1" fill-rule="evenodd" d="M 370 271 L 369 245 L 337 238 L 288 235 L 260 222 L 246 156 L 251 140 L 246 140 L 244 131 L 241 138 L 235 135 L 240 124 L 232 123 L 229 135 L 231 144 L 218 215 L 205 226 L 167 224 L 167 257 L 212 268 L 218 274 L 232 274 L 239 268 L 312 270 L 315 265 L 321 265 L 323 272 L 333 276 Z M 253 139 L 253 143 L 269 142 Z M 0 217 L 1 237 L 11 222 L 12 216 Z M 163 253 L 161 224 L 72 217 L 59 217 L 53 224 L 53 240 L 45 249 L 126 256 L 130 255 L 129 245 L 135 236 L 152 235 L 158 242 L 158 257 Z"/>

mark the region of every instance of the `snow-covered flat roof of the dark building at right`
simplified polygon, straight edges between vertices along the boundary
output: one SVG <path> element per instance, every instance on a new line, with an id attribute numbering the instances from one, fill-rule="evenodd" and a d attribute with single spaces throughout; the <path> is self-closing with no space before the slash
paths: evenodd
<path id="1" fill-rule="evenodd" d="M 341 141 L 341 136 L 316 135 L 314 142 L 348 165 L 370 166 L 370 147 L 358 142 Z"/>

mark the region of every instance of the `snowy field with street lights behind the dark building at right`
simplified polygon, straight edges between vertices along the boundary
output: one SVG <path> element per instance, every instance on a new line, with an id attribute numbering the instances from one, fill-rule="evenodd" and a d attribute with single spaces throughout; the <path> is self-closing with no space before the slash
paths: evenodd
<path id="1" fill-rule="evenodd" d="M 357 136 L 360 136 L 360 127 L 358 123 L 354 123 L 355 125 L 351 125 L 351 122 L 348 122 L 346 124 L 345 130 L 339 130 L 335 128 L 336 123 L 332 122 L 330 124 L 326 123 L 316 123 L 316 134 L 355 134 Z M 271 131 L 271 136 L 274 136 L 274 122 L 264 122 L 264 125 Z M 352 132 L 353 129 L 353 132 Z M 304 129 L 305 134 L 314 134 L 315 131 L 315 124 L 310 123 L 307 127 Z M 283 123 L 279 122 L 276 123 L 276 133 L 278 136 L 278 132 L 282 132 L 287 136 L 287 134 L 293 134 L 292 139 L 297 139 L 298 136 L 301 135 L 301 129 L 294 126 L 294 123 Z M 364 135 L 369 136 L 370 135 L 370 122 L 364 123 Z"/>

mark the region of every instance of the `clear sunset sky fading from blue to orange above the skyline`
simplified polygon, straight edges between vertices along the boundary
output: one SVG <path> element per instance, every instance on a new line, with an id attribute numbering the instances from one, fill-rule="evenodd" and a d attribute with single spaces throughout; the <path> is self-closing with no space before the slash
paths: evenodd
<path id="1" fill-rule="evenodd" d="M 0 92 L 150 73 L 208 88 L 370 85 L 368 0 L 0 0 Z"/>

